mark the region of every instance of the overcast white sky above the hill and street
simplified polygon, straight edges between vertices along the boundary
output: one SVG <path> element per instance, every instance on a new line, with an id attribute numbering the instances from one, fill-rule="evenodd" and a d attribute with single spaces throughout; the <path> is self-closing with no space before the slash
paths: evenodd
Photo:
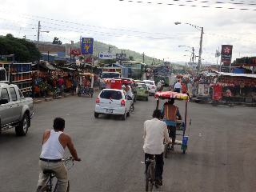
<path id="1" fill-rule="evenodd" d="M 256 56 L 254 0 L 0 0 L 0 7 L 0 35 L 37 40 L 40 21 L 41 31 L 50 31 L 40 34 L 42 41 L 58 37 L 70 43 L 82 36 L 169 62 L 190 62 L 192 47 L 198 55 L 203 27 L 202 63 L 216 63 L 222 45 L 233 45 L 232 60 Z"/>

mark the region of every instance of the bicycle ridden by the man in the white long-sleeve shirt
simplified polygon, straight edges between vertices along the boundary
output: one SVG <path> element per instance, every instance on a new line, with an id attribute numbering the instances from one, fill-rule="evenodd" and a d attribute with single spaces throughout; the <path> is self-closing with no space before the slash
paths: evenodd
<path id="1" fill-rule="evenodd" d="M 146 162 L 150 162 L 150 165 L 147 167 L 146 171 L 146 191 L 152 191 L 154 186 L 158 188 L 158 184 L 155 181 L 155 158 L 147 158 Z"/>

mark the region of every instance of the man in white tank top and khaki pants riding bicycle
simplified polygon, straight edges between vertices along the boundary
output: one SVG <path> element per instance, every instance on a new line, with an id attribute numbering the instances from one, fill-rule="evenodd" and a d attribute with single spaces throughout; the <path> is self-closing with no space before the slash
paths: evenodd
<path id="1" fill-rule="evenodd" d="M 77 151 L 70 135 L 64 134 L 65 120 L 63 118 L 54 119 L 54 130 L 45 130 L 42 138 L 42 153 L 40 155 L 39 166 L 40 174 L 38 180 L 38 189 L 41 189 L 47 182 L 48 176 L 43 174 L 43 170 L 53 170 L 58 178 L 58 191 L 66 191 L 69 178 L 67 176 L 66 166 L 62 162 L 66 146 L 70 150 L 73 161 L 81 161 L 78 158 Z"/>

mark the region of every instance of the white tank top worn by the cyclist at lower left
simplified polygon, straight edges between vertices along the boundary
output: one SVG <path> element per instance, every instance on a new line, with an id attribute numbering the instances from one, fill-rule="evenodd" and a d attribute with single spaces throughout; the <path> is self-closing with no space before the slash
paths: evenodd
<path id="1" fill-rule="evenodd" d="M 58 137 L 62 133 L 62 131 L 55 132 L 54 130 L 50 130 L 50 138 L 48 138 L 48 140 L 42 145 L 42 153 L 40 158 L 63 158 L 64 149 L 61 143 L 58 141 Z"/>

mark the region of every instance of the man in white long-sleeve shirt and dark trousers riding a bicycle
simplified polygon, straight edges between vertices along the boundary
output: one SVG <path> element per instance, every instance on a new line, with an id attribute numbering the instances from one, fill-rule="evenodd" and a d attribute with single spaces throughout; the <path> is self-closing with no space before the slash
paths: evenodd
<path id="1" fill-rule="evenodd" d="M 146 162 L 147 158 L 154 158 L 155 155 L 155 174 L 158 186 L 162 186 L 162 171 L 163 171 L 163 139 L 166 143 L 171 143 L 167 125 L 165 122 L 160 121 L 161 110 L 154 110 L 153 119 L 144 122 L 144 146 L 146 170 L 149 163 Z"/>

